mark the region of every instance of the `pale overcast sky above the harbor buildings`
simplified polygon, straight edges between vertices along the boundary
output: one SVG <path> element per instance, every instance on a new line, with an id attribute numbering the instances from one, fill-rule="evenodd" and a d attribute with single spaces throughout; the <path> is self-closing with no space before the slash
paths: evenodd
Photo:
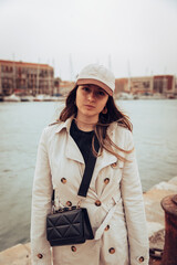
<path id="1" fill-rule="evenodd" d="M 62 80 L 88 63 L 177 75 L 177 0 L 0 0 L 0 59 L 48 63 Z"/>

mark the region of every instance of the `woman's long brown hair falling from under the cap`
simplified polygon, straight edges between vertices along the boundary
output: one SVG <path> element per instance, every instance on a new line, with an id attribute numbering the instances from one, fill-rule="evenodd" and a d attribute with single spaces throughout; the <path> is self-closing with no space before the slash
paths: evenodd
<path id="1" fill-rule="evenodd" d="M 77 114 L 77 107 L 75 106 L 75 98 L 76 98 L 76 89 L 77 86 L 75 86 L 67 95 L 66 97 L 66 102 L 65 102 L 65 107 L 62 110 L 62 113 L 60 114 L 60 118 L 58 119 L 58 121 L 65 121 L 67 118 L 70 118 L 71 116 L 74 115 L 74 117 L 76 117 Z M 114 155 L 115 157 L 117 157 L 119 160 L 125 161 L 126 159 L 124 157 L 122 157 L 121 155 L 117 153 L 116 150 L 129 153 L 133 151 L 132 150 L 124 150 L 122 148 L 119 148 L 117 145 L 115 145 L 112 139 L 108 137 L 108 135 L 106 134 L 108 126 L 113 123 L 116 121 L 117 125 L 127 128 L 128 130 L 133 130 L 133 125 L 129 121 L 128 116 L 126 116 L 125 114 L 123 114 L 123 112 L 121 112 L 117 106 L 115 105 L 114 98 L 112 96 L 108 96 L 107 103 L 106 103 L 106 108 L 107 108 L 107 113 L 100 114 L 98 117 L 98 123 L 95 126 L 95 135 L 98 139 L 100 142 L 100 153 L 97 153 L 95 151 L 94 148 L 94 137 L 92 140 L 92 150 L 93 153 L 95 156 L 100 156 L 103 151 L 103 148 L 105 150 L 107 150 L 108 152 L 111 152 L 112 155 Z"/>

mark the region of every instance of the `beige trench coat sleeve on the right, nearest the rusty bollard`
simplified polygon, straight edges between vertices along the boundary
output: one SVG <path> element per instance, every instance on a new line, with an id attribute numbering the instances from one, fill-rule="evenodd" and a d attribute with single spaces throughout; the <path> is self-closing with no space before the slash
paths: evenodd
<path id="1" fill-rule="evenodd" d="M 131 131 L 126 132 L 126 149 L 132 150 L 134 148 L 133 136 Z M 126 155 L 126 159 L 128 161 L 123 168 L 121 192 L 128 233 L 131 265 L 148 265 L 147 223 L 135 150 Z"/>

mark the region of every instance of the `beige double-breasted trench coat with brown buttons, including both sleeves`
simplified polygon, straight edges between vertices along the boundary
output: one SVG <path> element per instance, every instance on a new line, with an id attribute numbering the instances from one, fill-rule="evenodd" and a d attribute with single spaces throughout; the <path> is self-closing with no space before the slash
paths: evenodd
<path id="1" fill-rule="evenodd" d="M 85 167 L 70 136 L 71 120 L 46 127 L 40 139 L 32 194 L 32 264 L 147 265 L 148 236 L 135 151 L 126 155 L 131 162 L 124 163 L 106 150 L 96 160 L 87 197 L 81 201 L 88 211 L 94 240 L 74 247 L 50 247 L 45 219 L 52 190 L 56 190 L 56 205 L 59 200 L 64 206 L 67 201 L 75 205 Z M 132 132 L 116 123 L 107 134 L 118 147 L 133 148 Z"/>

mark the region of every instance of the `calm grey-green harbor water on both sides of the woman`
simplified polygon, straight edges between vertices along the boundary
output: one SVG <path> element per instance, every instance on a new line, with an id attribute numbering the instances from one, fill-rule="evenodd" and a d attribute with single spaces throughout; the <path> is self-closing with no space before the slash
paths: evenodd
<path id="1" fill-rule="evenodd" d="M 117 100 L 131 117 L 146 191 L 177 176 L 177 100 Z M 30 240 L 38 141 L 62 103 L 0 103 L 0 251 Z"/>

